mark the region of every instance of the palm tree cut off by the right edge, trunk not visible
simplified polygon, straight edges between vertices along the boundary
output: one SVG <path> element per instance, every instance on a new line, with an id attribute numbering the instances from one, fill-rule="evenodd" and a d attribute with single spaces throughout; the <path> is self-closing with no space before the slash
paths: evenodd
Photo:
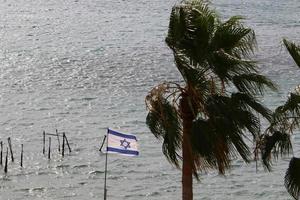
<path id="1" fill-rule="evenodd" d="M 285 47 L 300 67 L 300 46 L 286 39 Z M 290 136 L 293 130 L 300 128 L 300 85 L 290 93 L 287 101 L 278 106 L 272 115 L 270 126 L 259 141 L 259 149 L 263 164 L 271 170 L 271 157 L 277 158 L 279 154 L 288 154 L 292 150 Z M 300 196 L 300 158 L 293 157 L 285 175 L 287 191 L 295 198 Z"/>

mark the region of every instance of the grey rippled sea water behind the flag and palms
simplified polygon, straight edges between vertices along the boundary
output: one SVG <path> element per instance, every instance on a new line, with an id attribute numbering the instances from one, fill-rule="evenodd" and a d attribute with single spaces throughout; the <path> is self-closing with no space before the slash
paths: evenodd
<path id="1" fill-rule="evenodd" d="M 0 2 L 0 136 L 17 153 L 0 168 L 0 199 L 102 199 L 100 142 L 111 127 L 139 138 L 137 158 L 109 156 L 109 199 L 180 199 L 180 171 L 161 154 L 145 126 L 144 97 L 164 80 L 178 80 L 164 44 L 176 1 L 10 0 Z M 243 15 L 256 30 L 263 73 L 281 90 L 275 107 L 299 82 L 281 40 L 300 41 L 297 0 L 215 0 L 224 18 Z M 73 149 L 42 155 L 42 131 L 65 131 Z M 53 145 L 56 145 L 55 138 Z M 24 168 L 19 167 L 24 144 Z M 299 136 L 294 138 L 299 154 Z M 5 144 L 6 145 L 6 144 Z M 288 159 L 274 172 L 236 161 L 226 177 L 210 172 L 195 183 L 195 199 L 291 199 L 283 186 Z"/>

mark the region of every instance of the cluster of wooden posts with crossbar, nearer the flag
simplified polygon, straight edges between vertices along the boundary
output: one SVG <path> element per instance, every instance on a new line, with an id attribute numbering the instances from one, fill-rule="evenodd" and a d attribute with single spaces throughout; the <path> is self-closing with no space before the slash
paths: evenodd
<path id="1" fill-rule="evenodd" d="M 62 157 L 65 156 L 65 143 L 68 146 L 69 153 L 72 152 L 66 133 L 65 132 L 59 133 L 56 129 L 56 134 L 46 133 L 45 131 L 43 131 L 43 154 L 44 155 L 46 153 L 46 135 L 55 136 L 57 138 L 58 152 L 61 152 Z M 62 149 L 60 149 L 60 138 L 59 138 L 60 135 L 62 135 L 63 137 Z M 51 137 L 48 138 L 48 159 L 50 158 L 51 158 Z"/>

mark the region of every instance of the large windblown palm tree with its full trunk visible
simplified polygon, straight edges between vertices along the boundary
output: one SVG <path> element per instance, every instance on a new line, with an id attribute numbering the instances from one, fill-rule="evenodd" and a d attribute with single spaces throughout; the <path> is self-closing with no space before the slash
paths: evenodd
<path id="1" fill-rule="evenodd" d="M 222 21 L 204 0 L 172 8 L 166 43 L 182 79 L 154 87 L 146 97 L 146 123 L 167 159 L 180 168 L 182 199 L 193 199 L 193 175 L 207 169 L 224 174 L 233 157 L 251 160 L 245 142 L 260 136 L 260 114 L 272 120 L 257 95 L 274 84 L 251 60 L 254 31 L 242 17 Z M 256 114 L 258 113 L 258 114 Z"/>

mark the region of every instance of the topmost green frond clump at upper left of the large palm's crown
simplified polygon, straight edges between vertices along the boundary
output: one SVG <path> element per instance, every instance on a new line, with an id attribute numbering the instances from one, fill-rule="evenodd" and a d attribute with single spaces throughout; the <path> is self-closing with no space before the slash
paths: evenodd
<path id="1" fill-rule="evenodd" d="M 166 43 L 172 50 L 180 49 L 193 65 L 203 67 L 217 21 L 218 15 L 206 1 L 183 1 L 172 9 Z"/>

